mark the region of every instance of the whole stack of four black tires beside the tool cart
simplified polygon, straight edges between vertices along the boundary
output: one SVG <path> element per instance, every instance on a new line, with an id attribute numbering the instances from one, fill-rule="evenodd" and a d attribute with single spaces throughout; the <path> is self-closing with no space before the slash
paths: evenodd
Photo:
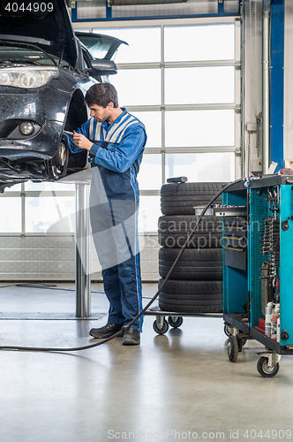
<path id="1" fill-rule="evenodd" d="M 198 217 L 222 183 L 172 183 L 161 188 L 159 288 Z M 222 204 L 222 195 L 214 201 Z M 159 295 L 159 307 L 177 313 L 222 312 L 222 217 L 204 216 Z"/>

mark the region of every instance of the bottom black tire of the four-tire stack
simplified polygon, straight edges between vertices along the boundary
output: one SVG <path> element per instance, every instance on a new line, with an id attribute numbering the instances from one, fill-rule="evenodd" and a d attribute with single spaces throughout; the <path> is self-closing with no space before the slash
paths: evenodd
<path id="1" fill-rule="evenodd" d="M 164 280 L 159 280 L 159 288 Z M 222 281 L 169 279 L 159 295 L 162 310 L 181 313 L 222 312 Z"/>

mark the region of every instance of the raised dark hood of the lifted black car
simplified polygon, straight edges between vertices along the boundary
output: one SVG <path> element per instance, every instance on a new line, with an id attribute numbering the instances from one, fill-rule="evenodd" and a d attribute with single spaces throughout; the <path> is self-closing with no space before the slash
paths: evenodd
<path id="1" fill-rule="evenodd" d="M 41 50 L 64 57 L 72 66 L 76 65 L 78 43 L 64 0 L 43 2 L 47 8 L 37 12 L 20 11 L 16 7 L 16 11 L 8 11 L 4 4 L 0 3 L 0 40 L 34 44 Z M 15 4 L 20 5 L 21 2 Z M 24 1 L 23 4 L 26 8 L 26 5 L 32 3 Z"/>

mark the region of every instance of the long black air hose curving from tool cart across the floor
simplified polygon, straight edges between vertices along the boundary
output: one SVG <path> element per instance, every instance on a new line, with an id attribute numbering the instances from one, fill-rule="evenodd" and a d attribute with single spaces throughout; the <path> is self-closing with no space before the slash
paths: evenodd
<path id="1" fill-rule="evenodd" d="M 187 246 L 187 244 L 189 243 L 189 241 L 192 239 L 192 235 L 193 233 L 197 230 L 197 228 L 199 227 L 199 224 L 202 220 L 202 218 L 204 217 L 205 213 L 207 212 L 207 209 L 213 204 L 213 202 L 224 192 L 226 192 L 226 190 L 233 186 L 234 184 L 241 182 L 241 181 L 245 181 L 245 179 L 241 178 L 241 179 L 237 179 L 236 181 L 232 181 L 229 184 L 227 184 L 226 186 L 222 187 L 222 189 L 213 196 L 213 198 L 207 203 L 207 205 L 205 206 L 205 208 L 201 211 L 200 215 L 199 215 L 199 219 L 196 223 L 196 225 L 194 225 L 194 227 L 192 228 L 192 232 L 189 233 L 187 239 L 184 242 L 183 247 L 180 249 L 180 252 L 177 255 L 176 260 L 174 261 L 174 263 L 172 264 L 171 268 L 169 269 L 169 272 L 166 276 L 166 278 L 164 279 L 162 286 L 159 288 L 159 290 L 157 291 L 157 293 L 154 294 L 154 297 L 151 299 L 151 301 L 149 301 L 146 304 L 146 307 L 144 309 L 141 310 L 141 312 L 139 313 L 138 316 L 136 316 L 134 319 L 132 319 L 131 323 L 129 324 L 125 324 L 121 330 L 117 331 L 115 334 L 113 334 L 112 336 L 110 336 L 109 338 L 106 339 L 101 339 L 99 342 L 96 342 L 95 344 L 90 344 L 88 346 L 84 346 L 84 347 L 69 347 L 69 348 L 49 348 L 49 347 L 12 347 L 12 346 L 0 346 L 0 350 L 22 350 L 22 351 L 34 351 L 34 352 L 77 352 L 80 350 L 86 350 L 87 348 L 93 348 L 93 347 L 99 347 L 102 344 L 105 344 L 106 342 L 109 342 L 109 340 L 116 338 L 116 336 L 121 335 L 121 332 L 125 332 L 128 331 L 131 328 L 131 325 L 134 324 L 140 316 L 142 316 L 147 309 L 149 309 L 149 307 L 153 304 L 153 302 L 157 299 L 157 297 L 159 296 L 159 294 L 162 292 L 162 289 L 164 288 L 164 286 L 166 286 L 167 281 L 169 280 L 172 271 L 174 271 L 179 259 L 181 258 L 181 256 L 184 253 L 184 250 Z"/>

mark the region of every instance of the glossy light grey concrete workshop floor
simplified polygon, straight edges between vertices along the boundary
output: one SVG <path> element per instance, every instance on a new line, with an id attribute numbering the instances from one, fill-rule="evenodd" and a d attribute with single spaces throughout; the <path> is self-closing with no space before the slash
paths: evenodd
<path id="1" fill-rule="evenodd" d="M 74 312 L 74 291 L 60 290 L 74 286 L 56 288 L 1 284 L 0 311 Z M 144 285 L 145 297 L 155 291 Z M 104 295 L 92 297 L 92 312 L 106 312 Z M 0 346 L 79 347 L 105 319 L 3 319 Z M 184 318 L 162 336 L 153 322 L 146 316 L 140 347 L 116 338 L 77 353 L 0 351 L 0 441 L 293 439 L 292 356 L 264 378 L 255 341 L 229 362 L 222 319 Z"/>

